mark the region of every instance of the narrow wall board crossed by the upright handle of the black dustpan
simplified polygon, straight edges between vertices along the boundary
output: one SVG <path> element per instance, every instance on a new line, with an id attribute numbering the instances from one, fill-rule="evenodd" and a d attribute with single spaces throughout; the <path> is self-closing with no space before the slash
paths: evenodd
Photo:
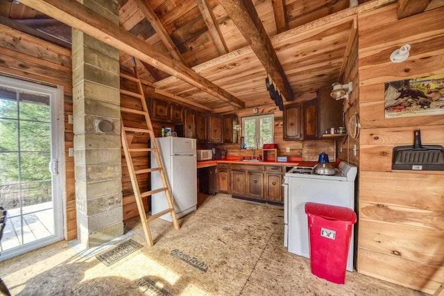
<path id="1" fill-rule="evenodd" d="M 365 128 L 359 132 L 361 145 L 396 144 L 413 146 L 414 126 L 396 128 Z M 420 128 L 422 145 L 444 145 L 443 125 L 425 125 Z"/>

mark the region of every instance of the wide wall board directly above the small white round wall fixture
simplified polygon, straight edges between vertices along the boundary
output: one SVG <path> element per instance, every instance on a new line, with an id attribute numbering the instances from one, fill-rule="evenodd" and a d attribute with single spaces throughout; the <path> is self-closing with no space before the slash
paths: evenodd
<path id="1" fill-rule="evenodd" d="M 444 7 L 413 15 L 380 26 L 366 27 L 359 22 L 359 48 L 364 53 L 374 49 L 400 46 L 414 40 L 444 33 Z M 379 17 L 379 16 L 375 16 Z"/>

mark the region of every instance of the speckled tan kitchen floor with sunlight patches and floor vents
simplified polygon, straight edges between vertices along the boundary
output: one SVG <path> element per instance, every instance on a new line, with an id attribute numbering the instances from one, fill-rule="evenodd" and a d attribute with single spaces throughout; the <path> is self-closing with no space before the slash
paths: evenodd
<path id="1" fill-rule="evenodd" d="M 180 230 L 153 221 L 153 247 L 130 220 L 126 238 L 144 247 L 108 267 L 60 242 L 1 262 L 0 276 L 12 295 L 427 295 L 357 272 L 344 285 L 312 275 L 309 259 L 283 246 L 283 214 L 218 194 Z"/>

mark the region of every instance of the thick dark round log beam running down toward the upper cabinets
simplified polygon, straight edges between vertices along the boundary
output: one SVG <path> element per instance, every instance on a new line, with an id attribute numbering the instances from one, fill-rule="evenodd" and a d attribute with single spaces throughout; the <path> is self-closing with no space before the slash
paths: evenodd
<path id="1" fill-rule="evenodd" d="M 251 0 L 220 0 L 223 8 L 234 21 L 241 34 L 251 46 L 259 61 L 264 65 L 275 85 L 287 101 L 293 101 L 294 94 L 284 69 L 279 62 L 273 44 L 262 26 L 262 21 Z M 264 79 L 264 87 L 265 79 Z"/>

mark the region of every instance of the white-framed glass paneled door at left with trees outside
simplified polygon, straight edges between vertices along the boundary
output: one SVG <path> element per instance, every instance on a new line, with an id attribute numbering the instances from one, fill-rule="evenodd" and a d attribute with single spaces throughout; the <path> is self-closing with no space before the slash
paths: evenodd
<path id="1" fill-rule="evenodd" d="M 62 92 L 0 76 L 0 261 L 62 239 Z"/>

